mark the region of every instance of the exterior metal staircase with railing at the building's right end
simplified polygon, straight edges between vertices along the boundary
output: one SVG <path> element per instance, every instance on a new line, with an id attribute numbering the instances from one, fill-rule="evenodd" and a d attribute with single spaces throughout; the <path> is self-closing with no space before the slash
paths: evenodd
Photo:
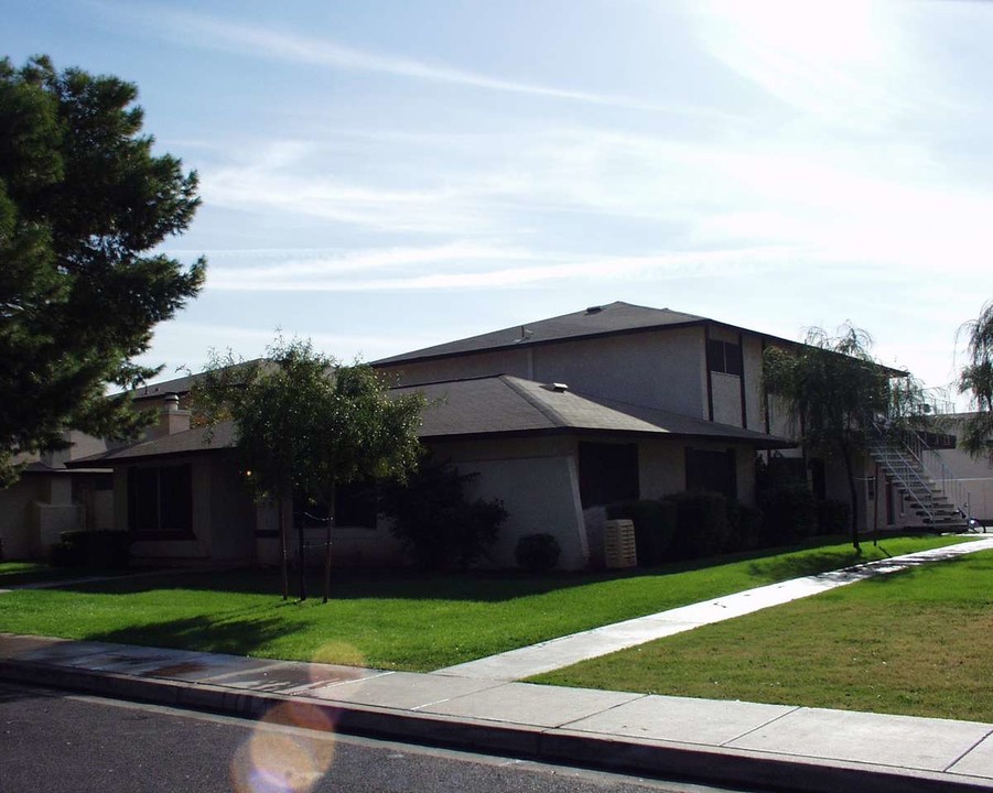
<path id="1" fill-rule="evenodd" d="M 899 488 L 919 523 L 939 531 L 973 530 L 969 493 L 918 433 L 886 431 L 870 436 L 870 454 Z"/>

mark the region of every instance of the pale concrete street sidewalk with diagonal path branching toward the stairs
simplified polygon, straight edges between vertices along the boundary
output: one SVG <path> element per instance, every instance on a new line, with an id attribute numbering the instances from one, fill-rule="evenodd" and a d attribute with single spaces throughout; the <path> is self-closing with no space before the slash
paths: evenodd
<path id="1" fill-rule="evenodd" d="M 563 645 L 609 652 L 714 613 L 990 547 L 993 539 L 760 587 Z M 503 662 L 493 677 L 458 669 L 384 672 L 0 633 L 0 678 L 104 696 L 763 791 L 993 791 L 993 724 L 532 685 L 500 677 L 510 674 Z"/>

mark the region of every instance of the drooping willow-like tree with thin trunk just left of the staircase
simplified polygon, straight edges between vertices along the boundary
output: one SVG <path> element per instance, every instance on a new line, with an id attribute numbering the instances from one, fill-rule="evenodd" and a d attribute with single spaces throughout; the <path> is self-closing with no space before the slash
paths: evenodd
<path id="1" fill-rule="evenodd" d="M 812 328 L 796 348 L 769 347 L 763 360 L 767 399 L 778 400 L 803 448 L 820 457 L 840 457 L 851 496 L 852 545 L 859 545 L 855 457 L 867 448 L 867 433 L 879 416 L 910 416 L 916 387 L 894 383 L 893 370 L 871 355 L 864 330 L 844 326 L 838 336 Z"/>

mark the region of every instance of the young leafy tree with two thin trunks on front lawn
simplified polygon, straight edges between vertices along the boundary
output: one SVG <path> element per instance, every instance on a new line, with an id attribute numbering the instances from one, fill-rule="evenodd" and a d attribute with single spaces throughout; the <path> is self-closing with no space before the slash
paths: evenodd
<path id="1" fill-rule="evenodd" d="M 193 403 L 208 424 L 235 422 L 246 484 L 258 502 L 277 508 L 283 598 L 289 591 L 283 501 L 302 490 L 327 503 L 326 602 L 336 488 L 369 478 L 401 479 L 417 466 L 423 398 L 391 398 L 370 367 L 338 366 L 315 352 L 310 341 L 280 339 L 262 361 L 215 358 L 194 388 Z M 299 595 L 304 600 L 302 525 L 296 540 Z"/>

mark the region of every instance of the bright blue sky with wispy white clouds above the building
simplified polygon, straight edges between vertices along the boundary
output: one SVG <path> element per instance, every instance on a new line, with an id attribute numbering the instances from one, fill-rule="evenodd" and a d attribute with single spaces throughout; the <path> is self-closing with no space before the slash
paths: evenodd
<path id="1" fill-rule="evenodd" d="M 143 362 L 343 361 L 626 301 L 947 387 L 993 298 L 993 3 L 0 0 L 138 85 L 206 286 Z"/>

